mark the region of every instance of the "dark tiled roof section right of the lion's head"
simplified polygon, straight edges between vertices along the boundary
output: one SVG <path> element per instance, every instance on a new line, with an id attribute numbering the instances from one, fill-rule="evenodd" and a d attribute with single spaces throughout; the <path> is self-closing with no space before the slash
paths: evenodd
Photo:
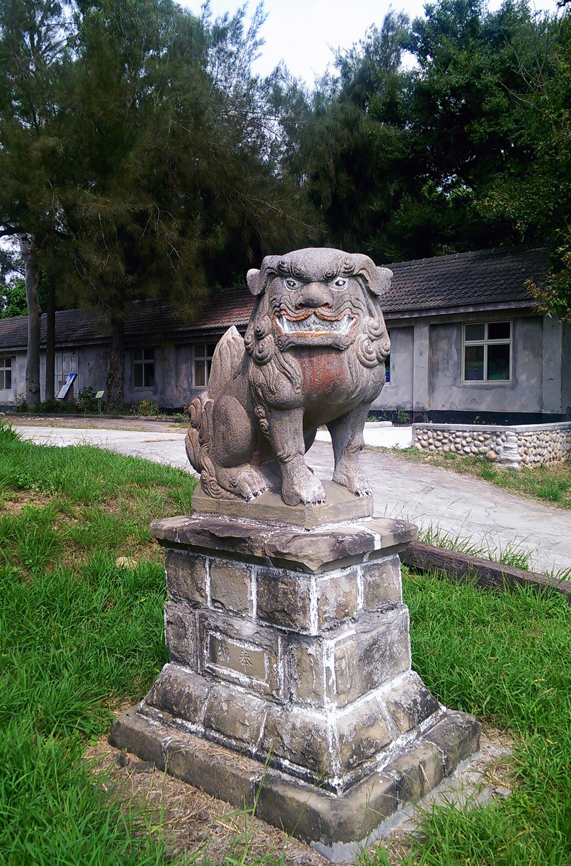
<path id="1" fill-rule="evenodd" d="M 548 249 L 480 249 L 386 267 L 394 274 L 381 299 L 386 313 L 530 301 L 525 281 L 541 279 L 548 268 Z"/>

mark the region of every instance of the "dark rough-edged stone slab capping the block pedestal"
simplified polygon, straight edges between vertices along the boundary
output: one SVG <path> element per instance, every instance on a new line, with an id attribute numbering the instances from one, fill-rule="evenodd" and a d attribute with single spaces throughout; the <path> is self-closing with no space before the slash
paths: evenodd
<path id="1" fill-rule="evenodd" d="M 164 546 L 183 546 L 199 553 L 234 553 L 266 565 L 317 573 L 365 556 L 373 559 L 416 539 L 418 528 L 406 520 L 373 517 L 315 529 L 276 527 L 260 520 L 232 520 L 209 514 L 153 520 L 151 533 Z M 378 553 L 377 555 L 380 555 Z"/>

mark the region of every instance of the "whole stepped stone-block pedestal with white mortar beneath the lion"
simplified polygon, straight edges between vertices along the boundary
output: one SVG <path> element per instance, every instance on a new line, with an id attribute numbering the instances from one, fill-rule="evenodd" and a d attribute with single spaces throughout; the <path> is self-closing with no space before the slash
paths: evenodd
<path id="1" fill-rule="evenodd" d="M 476 751 L 479 725 L 411 669 L 399 553 L 416 527 L 305 510 L 152 524 L 170 662 L 110 741 L 234 805 L 257 796 L 258 817 L 343 861 Z"/>

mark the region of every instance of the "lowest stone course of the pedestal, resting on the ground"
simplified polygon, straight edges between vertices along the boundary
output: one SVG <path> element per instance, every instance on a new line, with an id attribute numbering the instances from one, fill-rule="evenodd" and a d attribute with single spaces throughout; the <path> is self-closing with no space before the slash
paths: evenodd
<path id="1" fill-rule="evenodd" d="M 310 844 L 334 863 L 347 863 L 360 845 L 374 842 L 395 811 L 424 797 L 478 749 L 480 726 L 468 714 L 445 711 L 406 751 L 395 749 L 382 770 L 342 794 L 326 792 L 259 760 L 181 731 L 167 721 L 128 709 L 115 721 L 109 742 L 152 760 L 237 808 L 253 809 L 268 824 Z"/>

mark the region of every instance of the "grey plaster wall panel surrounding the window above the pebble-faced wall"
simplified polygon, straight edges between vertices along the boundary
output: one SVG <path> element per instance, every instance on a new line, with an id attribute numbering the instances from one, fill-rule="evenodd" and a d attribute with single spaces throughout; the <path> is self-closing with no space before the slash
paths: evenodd
<path id="1" fill-rule="evenodd" d="M 514 319 L 511 382 L 478 383 L 462 381 L 462 323 L 431 325 L 430 397 L 429 405 L 425 408 L 452 411 L 541 411 L 544 351 L 542 325 L 541 316 Z M 561 369 L 561 360 L 559 367 Z M 549 411 L 559 410 L 554 408 Z"/>

